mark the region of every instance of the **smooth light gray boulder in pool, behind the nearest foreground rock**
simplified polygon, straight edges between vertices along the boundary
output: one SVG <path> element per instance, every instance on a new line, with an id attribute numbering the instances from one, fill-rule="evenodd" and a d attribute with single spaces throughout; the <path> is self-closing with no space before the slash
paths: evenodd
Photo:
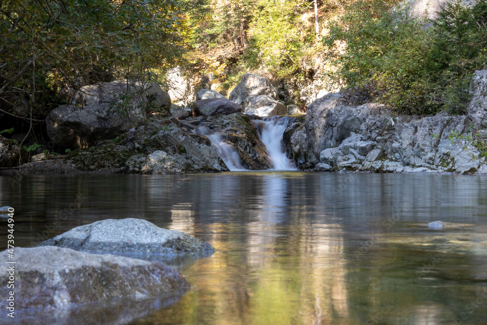
<path id="1" fill-rule="evenodd" d="M 211 254 L 210 244 L 184 232 L 159 228 L 142 219 L 107 219 L 76 227 L 39 246 L 94 253 Z"/>

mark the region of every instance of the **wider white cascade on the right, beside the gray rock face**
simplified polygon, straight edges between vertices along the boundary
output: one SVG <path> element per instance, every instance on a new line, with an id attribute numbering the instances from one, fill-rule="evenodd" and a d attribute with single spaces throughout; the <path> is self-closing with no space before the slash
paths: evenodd
<path id="1" fill-rule="evenodd" d="M 289 116 L 270 116 L 253 122 L 274 169 L 279 171 L 296 170 L 294 162 L 282 150 L 282 135 L 290 123 Z"/>

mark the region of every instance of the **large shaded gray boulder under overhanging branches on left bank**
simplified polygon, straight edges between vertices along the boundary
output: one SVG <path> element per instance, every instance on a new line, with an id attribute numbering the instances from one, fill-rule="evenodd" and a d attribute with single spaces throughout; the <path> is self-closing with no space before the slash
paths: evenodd
<path id="1" fill-rule="evenodd" d="M 170 98 L 159 85 L 104 82 L 82 87 L 73 105 L 63 105 L 46 117 L 47 133 L 61 147 L 85 149 L 141 125 L 146 110 L 167 111 Z"/>

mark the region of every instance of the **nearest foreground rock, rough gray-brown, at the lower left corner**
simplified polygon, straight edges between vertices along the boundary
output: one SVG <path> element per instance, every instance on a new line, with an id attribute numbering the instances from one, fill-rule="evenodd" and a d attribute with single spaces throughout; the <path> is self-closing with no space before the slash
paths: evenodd
<path id="1" fill-rule="evenodd" d="M 6 256 L 7 251 L 2 254 Z M 65 310 L 120 297 L 135 300 L 149 295 L 177 295 L 176 290 L 189 287 L 180 273 L 164 264 L 110 254 L 58 247 L 16 248 L 15 260 L 16 311 Z M 2 268 L 2 283 L 7 283 L 8 277 L 7 268 Z M 7 286 L 0 289 L 3 310 L 7 310 L 9 290 Z"/>

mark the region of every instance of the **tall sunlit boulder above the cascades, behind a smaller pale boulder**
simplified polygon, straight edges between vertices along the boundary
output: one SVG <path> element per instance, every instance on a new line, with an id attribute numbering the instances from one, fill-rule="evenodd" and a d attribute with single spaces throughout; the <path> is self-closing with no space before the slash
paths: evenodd
<path id="1" fill-rule="evenodd" d="M 279 95 L 274 86 L 265 77 L 248 73 L 242 76 L 240 83 L 232 90 L 228 99 L 236 102 L 245 109 L 250 99 L 254 96 L 270 96 L 279 100 Z"/>

